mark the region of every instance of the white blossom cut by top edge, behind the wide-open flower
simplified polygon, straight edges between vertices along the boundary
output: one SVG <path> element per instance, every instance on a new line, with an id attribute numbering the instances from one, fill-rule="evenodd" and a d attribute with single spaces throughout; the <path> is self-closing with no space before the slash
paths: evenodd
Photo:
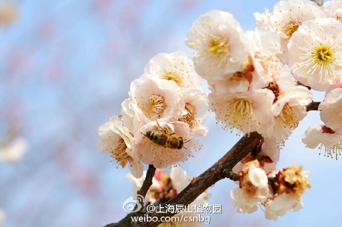
<path id="1" fill-rule="evenodd" d="M 324 17 L 323 11 L 314 3 L 308 0 L 281 0 L 273 8 L 270 15 L 271 31 L 276 32 L 280 37 L 281 54 L 280 58 L 284 64 L 288 63 L 291 52 L 287 50 L 287 43 L 292 34 L 307 20 Z"/>

